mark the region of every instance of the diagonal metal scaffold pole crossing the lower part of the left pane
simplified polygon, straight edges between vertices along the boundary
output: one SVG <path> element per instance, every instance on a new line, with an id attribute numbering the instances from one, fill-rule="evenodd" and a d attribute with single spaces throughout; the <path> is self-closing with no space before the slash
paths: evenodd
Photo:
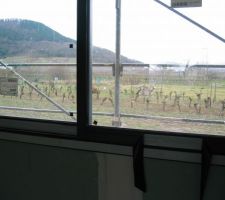
<path id="1" fill-rule="evenodd" d="M 0 60 L 0 64 L 1 64 L 1 66 L 5 67 L 7 70 L 9 70 L 10 72 L 13 72 L 20 79 L 22 79 L 28 86 L 30 86 L 31 88 L 33 88 L 38 94 L 40 94 L 43 97 L 45 97 L 50 103 L 52 103 L 54 106 L 56 106 L 63 113 L 65 113 L 66 115 L 70 116 L 73 120 L 76 120 L 76 118 L 73 116 L 73 112 L 68 112 L 65 108 L 63 108 L 57 102 L 55 102 L 54 100 L 52 100 L 45 93 L 43 93 L 42 91 L 40 91 L 37 87 L 35 87 L 34 85 L 32 85 L 32 83 L 30 83 L 23 76 L 21 76 L 18 72 L 16 72 L 13 68 L 11 68 L 10 65 L 7 65 L 7 64 L 3 63 L 1 60 Z"/>

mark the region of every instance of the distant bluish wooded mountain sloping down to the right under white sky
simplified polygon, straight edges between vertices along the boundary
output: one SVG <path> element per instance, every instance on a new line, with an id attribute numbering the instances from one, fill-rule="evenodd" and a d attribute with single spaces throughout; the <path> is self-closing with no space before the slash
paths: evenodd
<path id="1" fill-rule="evenodd" d="M 73 44 L 74 48 L 69 48 Z M 0 20 L 0 58 L 12 56 L 75 57 L 76 41 L 61 35 L 48 26 L 21 19 Z M 140 63 L 122 56 L 124 63 Z M 115 54 L 93 47 L 93 62 L 113 63 Z"/>

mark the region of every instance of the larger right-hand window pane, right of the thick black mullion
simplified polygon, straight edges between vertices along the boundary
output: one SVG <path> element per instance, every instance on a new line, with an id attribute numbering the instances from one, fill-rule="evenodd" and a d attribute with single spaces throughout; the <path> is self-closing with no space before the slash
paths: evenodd
<path id="1" fill-rule="evenodd" d="M 223 135 L 224 7 L 94 0 L 91 123 Z"/>

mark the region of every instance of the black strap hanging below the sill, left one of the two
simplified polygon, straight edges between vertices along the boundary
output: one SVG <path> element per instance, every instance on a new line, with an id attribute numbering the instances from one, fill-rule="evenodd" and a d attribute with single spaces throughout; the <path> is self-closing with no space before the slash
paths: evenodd
<path id="1" fill-rule="evenodd" d="M 146 192 L 144 172 L 144 135 L 141 135 L 133 145 L 134 184 L 143 192 Z"/>

